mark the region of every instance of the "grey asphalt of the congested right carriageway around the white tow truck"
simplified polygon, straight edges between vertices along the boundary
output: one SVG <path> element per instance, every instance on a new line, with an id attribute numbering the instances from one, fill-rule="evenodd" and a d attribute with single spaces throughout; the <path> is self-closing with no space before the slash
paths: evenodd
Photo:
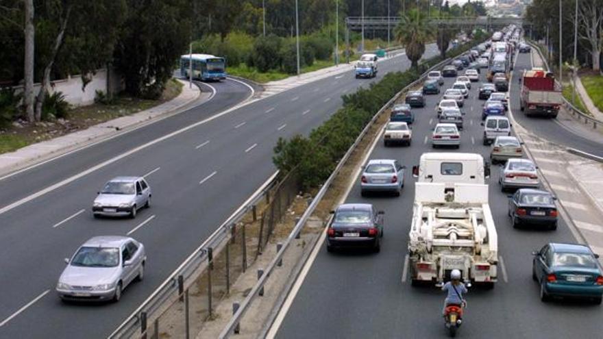
<path id="1" fill-rule="evenodd" d="M 529 54 L 520 54 L 514 78 L 529 66 Z M 485 72 L 482 71 L 482 81 Z M 445 78 L 444 88 L 452 85 Z M 465 129 L 461 133 L 460 152 L 489 157 L 490 147 L 482 145 L 480 114 L 483 101 L 477 99 L 479 85 L 473 83 L 465 99 Z M 524 127 L 541 126 L 542 119 L 526 119 L 519 111 L 517 81 L 511 88 L 510 108 Z M 360 197 L 359 178 L 347 202 L 373 203 L 385 212 L 384 238 L 380 253 L 341 251 L 328 253 L 325 244 L 315 258 L 276 338 L 441 338 L 447 336 L 441 317 L 445 294 L 434 286 L 412 287 L 403 274 L 408 231 L 413 213 L 414 183 L 410 168 L 419 163 L 421 153 L 433 151 L 429 140 L 436 124 L 434 106 L 439 95 L 428 95 L 428 104 L 415 110 L 413 145 L 385 148 L 381 140 L 369 159 L 397 159 L 407 166 L 406 185 L 401 197 Z M 547 123 L 547 122 L 545 122 Z M 543 125 L 543 124 L 542 124 Z M 550 125 L 547 123 L 547 125 Z M 552 141 L 565 139 L 557 130 L 539 129 Z M 558 138 L 562 138 L 559 140 Z M 574 136 L 575 138 L 575 136 Z M 427 140 L 427 141 L 426 141 Z M 436 151 L 458 152 L 456 149 Z M 603 332 L 603 308 L 575 302 L 542 303 L 539 286 L 531 278 L 531 251 L 551 241 L 575 242 L 565 221 L 556 231 L 513 229 L 507 216 L 507 194 L 497 184 L 499 167 L 493 166 L 489 179 L 490 206 L 497 225 L 499 281 L 493 290 L 471 288 L 460 338 L 595 338 Z M 568 182 L 568 185 L 571 183 Z M 402 281 L 402 278 L 406 280 Z M 282 310 L 282 312 L 284 312 Z M 599 335 L 597 335 L 599 334 Z"/>

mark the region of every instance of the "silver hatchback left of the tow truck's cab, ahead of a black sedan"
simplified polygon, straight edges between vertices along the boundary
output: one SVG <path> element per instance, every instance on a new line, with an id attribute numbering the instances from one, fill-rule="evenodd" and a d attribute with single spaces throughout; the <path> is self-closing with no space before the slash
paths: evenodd
<path id="1" fill-rule="evenodd" d="M 360 177 L 360 194 L 367 192 L 393 192 L 400 195 L 404 187 L 404 169 L 397 160 L 369 160 Z"/>

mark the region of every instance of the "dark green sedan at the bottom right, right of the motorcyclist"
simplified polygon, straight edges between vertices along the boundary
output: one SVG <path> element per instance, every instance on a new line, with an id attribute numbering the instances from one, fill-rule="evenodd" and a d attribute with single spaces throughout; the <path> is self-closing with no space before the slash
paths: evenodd
<path id="1" fill-rule="evenodd" d="M 540 299 L 577 297 L 600 304 L 603 274 L 598 255 L 582 244 L 549 243 L 532 252 L 532 279 L 540 284 Z"/>

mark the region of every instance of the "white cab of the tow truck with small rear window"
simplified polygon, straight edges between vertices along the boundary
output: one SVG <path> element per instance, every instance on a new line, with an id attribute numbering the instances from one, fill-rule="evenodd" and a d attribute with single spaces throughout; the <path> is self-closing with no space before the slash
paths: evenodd
<path id="1" fill-rule="evenodd" d="M 413 166 L 413 177 L 419 182 L 454 184 L 485 184 L 490 177 L 490 164 L 477 153 L 423 153 L 418 166 Z"/>

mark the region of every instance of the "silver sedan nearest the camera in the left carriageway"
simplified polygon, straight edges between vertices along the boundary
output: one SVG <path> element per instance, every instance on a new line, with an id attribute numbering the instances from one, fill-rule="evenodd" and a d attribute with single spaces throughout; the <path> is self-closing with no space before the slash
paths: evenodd
<path id="1" fill-rule="evenodd" d="M 65 262 L 67 267 L 56 286 L 60 299 L 119 301 L 128 284 L 145 277 L 147 255 L 143 244 L 132 238 L 97 236 Z"/>

